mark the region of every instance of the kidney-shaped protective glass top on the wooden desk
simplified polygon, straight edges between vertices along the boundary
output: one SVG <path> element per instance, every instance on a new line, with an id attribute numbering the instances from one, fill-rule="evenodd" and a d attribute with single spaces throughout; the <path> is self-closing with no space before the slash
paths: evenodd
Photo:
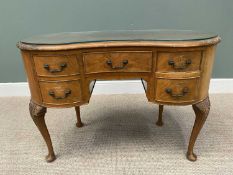
<path id="1" fill-rule="evenodd" d="M 55 33 L 22 40 L 25 44 L 61 45 L 110 41 L 194 41 L 216 37 L 216 34 L 191 30 L 116 30 Z"/>

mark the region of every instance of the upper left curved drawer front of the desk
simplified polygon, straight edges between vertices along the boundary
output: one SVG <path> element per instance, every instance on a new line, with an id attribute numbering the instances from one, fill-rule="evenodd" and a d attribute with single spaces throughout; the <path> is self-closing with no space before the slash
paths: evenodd
<path id="1" fill-rule="evenodd" d="M 80 73 L 76 55 L 34 55 L 38 76 L 67 76 Z"/>

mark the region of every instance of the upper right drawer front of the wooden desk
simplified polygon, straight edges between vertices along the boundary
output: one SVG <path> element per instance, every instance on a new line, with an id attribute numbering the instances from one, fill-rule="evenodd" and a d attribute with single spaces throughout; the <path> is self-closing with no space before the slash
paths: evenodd
<path id="1" fill-rule="evenodd" d="M 201 51 L 158 52 L 157 71 L 197 71 L 201 65 Z"/>

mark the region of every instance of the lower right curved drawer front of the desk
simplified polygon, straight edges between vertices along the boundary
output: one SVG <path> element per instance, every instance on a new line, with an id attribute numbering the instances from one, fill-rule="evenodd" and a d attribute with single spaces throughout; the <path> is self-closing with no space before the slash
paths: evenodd
<path id="1" fill-rule="evenodd" d="M 199 78 L 158 79 L 156 101 L 186 103 L 197 100 Z"/>

